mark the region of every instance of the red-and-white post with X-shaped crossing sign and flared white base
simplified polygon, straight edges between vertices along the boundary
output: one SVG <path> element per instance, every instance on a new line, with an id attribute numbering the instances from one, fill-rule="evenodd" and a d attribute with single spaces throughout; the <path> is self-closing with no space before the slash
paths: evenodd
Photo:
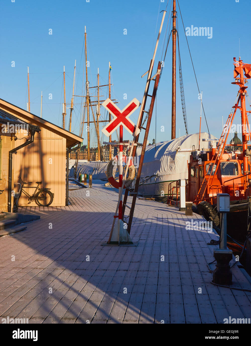
<path id="1" fill-rule="evenodd" d="M 119 188 L 118 194 L 120 196 L 117 227 L 114 227 L 112 233 L 110 234 L 107 244 L 110 245 L 123 245 L 123 244 L 133 244 L 127 232 L 127 225 L 123 223 L 122 220 L 122 183 L 123 183 L 123 127 L 127 129 L 133 136 L 140 133 L 140 129 L 137 129 L 135 124 L 129 119 L 129 116 L 140 106 L 140 102 L 137 99 L 133 99 L 127 104 L 127 106 L 120 110 L 109 98 L 106 99 L 102 106 L 104 106 L 113 116 L 113 119 L 109 124 L 102 129 L 102 132 L 109 137 L 118 127 L 119 127 L 119 155 L 117 160 L 118 173 L 119 173 Z M 114 143 L 109 143 L 112 145 Z"/>

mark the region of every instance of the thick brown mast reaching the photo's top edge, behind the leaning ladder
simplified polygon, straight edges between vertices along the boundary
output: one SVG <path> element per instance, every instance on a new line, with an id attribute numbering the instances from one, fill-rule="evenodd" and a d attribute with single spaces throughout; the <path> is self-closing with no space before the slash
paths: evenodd
<path id="1" fill-rule="evenodd" d="M 172 11 L 172 131 L 171 139 L 176 137 L 176 0 Z"/>

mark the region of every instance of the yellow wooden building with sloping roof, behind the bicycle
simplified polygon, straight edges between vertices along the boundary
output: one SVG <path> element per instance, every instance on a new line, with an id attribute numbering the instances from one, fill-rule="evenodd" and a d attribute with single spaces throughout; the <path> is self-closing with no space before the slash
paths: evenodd
<path id="1" fill-rule="evenodd" d="M 13 104 L 0 99 L 0 111 L 19 119 L 25 124 L 36 125 L 41 130 L 34 136 L 34 142 L 24 148 L 19 149 L 13 154 L 13 174 L 12 174 L 12 189 L 18 191 L 20 182 L 19 176 L 23 181 L 33 182 L 30 186 L 36 186 L 36 181 L 42 181 L 43 188 L 51 188 L 54 193 L 54 200 L 51 206 L 65 206 L 66 196 L 66 153 L 72 147 L 79 145 L 82 138 L 73 133 L 52 124 L 28 111 L 21 109 Z M 3 179 L 0 183 L 0 189 L 8 185 L 8 152 L 14 147 L 26 142 L 30 138 L 22 131 L 15 134 L 17 139 L 11 140 L 11 135 L 7 134 L 3 141 L 5 147 L 2 149 L 2 157 L 0 161 L 3 167 Z M 13 137 L 13 136 L 12 136 Z M 7 173 L 7 175 L 6 175 Z M 6 180 L 7 179 L 7 180 Z M 29 194 L 34 192 L 34 189 L 26 189 Z M 5 197 L 6 198 L 6 197 Z M 1 211 L 6 211 L 7 204 L 5 198 L 0 198 Z M 22 194 L 18 205 L 33 206 L 35 202 L 28 203 L 27 197 Z M 13 202 L 11 203 L 13 207 Z M 12 211 L 12 210 L 11 210 Z"/>

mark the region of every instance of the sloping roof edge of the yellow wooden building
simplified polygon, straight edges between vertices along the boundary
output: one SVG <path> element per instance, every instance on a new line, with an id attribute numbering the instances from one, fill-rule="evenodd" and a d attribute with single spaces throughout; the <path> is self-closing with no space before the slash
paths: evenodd
<path id="1" fill-rule="evenodd" d="M 8 114 L 8 110 L 9 111 L 11 110 L 12 112 L 14 112 L 15 116 L 17 118 L 18 118 L 18 115 L 20 114 L 20 116 L 22 118 L 25 118 L 27 121 L 31 121 L 31 122 L 35 123 L 35 125 L 38 125 L 39 127 L 47 127 L 52 132 L 66 138 L 66 147 L 67 148 L 72 147 L 75 144 L 79 144 L 83 141 L 83 138 L 73 134 L 72 132 L 63 129 L 60 126 L 52 124 L 52 122 L 47 121 L 43 118 L 40 118 L 40 117 L 36 116 L 35 114 L 32 114 L 32 113 L 30 113 L 30 112 L 28 112 L 22 108 L 15 106 L 12 103 L 9 103 L 5 100 L 0 99 L 0 111 L 2 113 Z M 9 116 L 10 116 L 10 114 L 9 114 Z M 11 115 L 11 116 L 13 116 L 13 115 Z"/>

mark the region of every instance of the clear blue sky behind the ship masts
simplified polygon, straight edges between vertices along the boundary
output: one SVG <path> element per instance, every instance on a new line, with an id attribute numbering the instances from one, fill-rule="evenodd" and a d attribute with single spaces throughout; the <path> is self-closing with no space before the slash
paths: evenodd
<path id="1" fill-rule="evenodd" d="M 14 0 L 12 0 L 14 1 Z M 84 55 L 81 53 L 84 42 L 84 26 L 87 27 L 88 80 L 96 85 L 99 67 L 100 84 L 108 82 L 108 63 L 111 62 L 111 97 L 118 99 L 118 107 L 123 109 L 136 97 L 143 97 L 146 77 L 141 75 L 149 68 L 150 60 L 159 29 L 162 14 L 167 6 L 156 62 L 163 49 L 165 28 L 168 23 L 170 4 L 164 0 L 5 0 L 1 2 L 1 53 L 0 53 L 0 98 L 26 109 L 27 66 L 30 71 L 30 111 L 40 116 L 41 91 L 43 91 L 43 118 L 56 125 L 62 124 L 62 83 L 63 66 L 66 71 L 66 102 L 70 107 L 74 62 L 77 60 L 76 94 L 82 94 Z M 233 81 L 233 57 L 239 56 L 251 63 L 249 35 L 251 23 L 248 19 L 248 0 L 179 1 L 185 27 L 212 27 L 213 36 L 188 36 L 200 90 L 203 91 L 203 104 L 210 133 L 220 136 L 222 115 L 227 119 L 237 94 Z M 178 8 L 178 6 L 177 6 Z M 178 13 L 180 54 L 187 109 L 188 131 L 199 131 L 200 100 L 192 70 L 185 33 Z M 238 21 L 244 18 L 243 26 Z M 52 29 L 52 35 L 49 35 Z M 127 35 L 124 35 L 127 29 Z M 15 61 L 15 67 L 11 62 Z M 157 142 L 171 137 L 171 41 L 157 93 Z M 84 79 L 85 79 L 84 75 Z M 153 84 L 152 84 L 153 85 Z M 93 90 L 93 89 L 92 89 Z M 150 89 L 151 90 L 151 89 Z M 48 95 L 52 93 L 52 100 Z M 124 94 L 127 100 L 124 100 Z M 105 99 L 107 88 L 101 90 Z M 73 130 L 79 133 L 80 98 L 75 98 Z M 249 105 L 247 105 L 249 110 Z M 70 110 L 67 110 L 68 124 Z M 104 115 L 104 109 L 102 110 Z M 136 122 L 138 112 L 131 119 Z M 92 116 L 90 115 L 92 120 Z M 236 124 L 240 114 L 236 114 Z M 161 131 L 164 126 L 164 131 Z M 204 115 L 202 131 L 207 131 Z M 179 75 L 177 73 L 177 125 L 176 136 L 185 134 L 183 123 Z M 101 130 L 101 126 L 100 126 Z M 91 129 L 93 137 L 94 129 Z M 84 138 L 86 139 L 86 132 Z M 149 139 L 155 137 L 155 107 Z M 113 135 L 116 139 L 116 135 Z M 124 131 L 125 139 L 132 139 Z M 107 140 L 105 138 L 104 140 Z M 94 143 L 93 143 L 94 145 Z M 92 143 L 91 143 L 92 146 Z"/>

